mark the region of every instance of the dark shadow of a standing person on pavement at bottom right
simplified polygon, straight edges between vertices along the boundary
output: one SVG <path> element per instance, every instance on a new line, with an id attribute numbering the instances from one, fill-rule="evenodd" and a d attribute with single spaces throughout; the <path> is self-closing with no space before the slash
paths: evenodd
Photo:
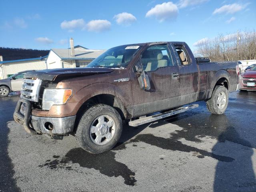
<path id="1" fill-rule="evenodd" d="M 224 131 L 218 136 L 218 142 L 212 151 L 230 150 L 236 160 L 230 166 L 224 162 L 218 162 L 214 177 L 214 192 L 256 191 L 256 179 L 252 166 L 252 145 L 240 138 L 234 127 L 228 126 L 230 122 L 225 115 L 217 116 L 216 120 Z M 232 143 L 223 144 L 226 140 L 244 147 L 238 146 L 234 149 Z M 223 146 L 226 147 L 223 149 Z"/>

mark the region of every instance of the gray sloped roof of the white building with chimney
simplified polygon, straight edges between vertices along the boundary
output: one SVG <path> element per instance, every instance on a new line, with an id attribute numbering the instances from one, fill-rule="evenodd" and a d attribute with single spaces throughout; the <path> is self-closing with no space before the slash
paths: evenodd
<path id="1" fill-rule="evenodd" d="M 80 59 L 95 59 L 104 53 L 106 50 L 74 50 L 75 56 L 71 56 L 70 49 L 51 49 L 56 53 L 62 60 L 80 60 Z"/>

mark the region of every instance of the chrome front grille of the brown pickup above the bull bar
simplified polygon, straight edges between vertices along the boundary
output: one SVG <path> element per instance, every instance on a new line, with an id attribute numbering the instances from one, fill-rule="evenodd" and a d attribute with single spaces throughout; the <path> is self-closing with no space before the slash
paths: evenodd
<path id="1" fill-rule="evenodd" d="M 21 98 L 38 102 L 40 86 L 42 80 L 40 79 L 24 79 L 21 89 Z"/>

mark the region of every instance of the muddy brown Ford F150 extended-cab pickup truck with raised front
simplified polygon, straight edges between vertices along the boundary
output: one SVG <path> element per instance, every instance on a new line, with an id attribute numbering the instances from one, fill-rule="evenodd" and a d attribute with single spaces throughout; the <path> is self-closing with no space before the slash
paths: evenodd
<path id="1" fill-rule="evenodd" d="M 194 58 L 184 42 L 118 46 L 86 68 L 26 73 L 14 120 L 29 133 L 72 134 L 98 154 L 116 145 L 126 122 L 138 126 L 202 100 L 212 114 L 223 114 L 238 72 L 238 62 Z"/>

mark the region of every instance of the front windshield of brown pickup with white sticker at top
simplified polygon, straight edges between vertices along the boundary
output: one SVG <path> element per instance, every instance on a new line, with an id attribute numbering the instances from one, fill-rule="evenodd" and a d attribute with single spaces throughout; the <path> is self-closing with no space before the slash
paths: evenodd
<path id="1" fill-rule="evenodd" d="M 94 59 L 87 67 L 124 69 L 142 46 L 118 46 L 111 48 Z"/>

